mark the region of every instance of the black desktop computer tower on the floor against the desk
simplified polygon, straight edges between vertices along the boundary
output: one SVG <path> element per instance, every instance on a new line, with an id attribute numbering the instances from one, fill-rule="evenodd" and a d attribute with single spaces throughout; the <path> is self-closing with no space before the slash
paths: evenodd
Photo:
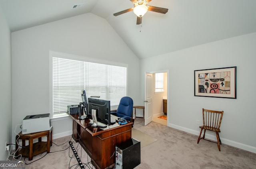
<path id="1" fill-rule="evenodd" d="M 116 145 L 116 169 L 133 169 L 140 164 L 140 141 L 127 140 Z"/>

